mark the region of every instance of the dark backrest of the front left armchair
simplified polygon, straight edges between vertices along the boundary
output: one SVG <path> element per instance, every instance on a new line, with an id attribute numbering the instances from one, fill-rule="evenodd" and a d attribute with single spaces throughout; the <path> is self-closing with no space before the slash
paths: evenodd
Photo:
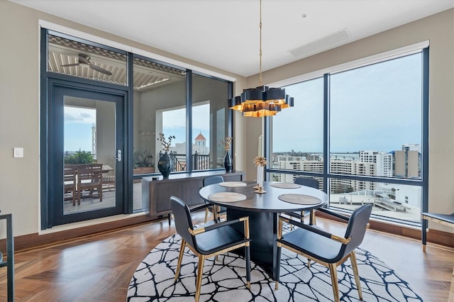
<path id="1" fill-rule="evenodd" d="M 170 196 L 170 206 L 172 206 L 172 213 L 175 218 L 175 228 L 178 235 L 180 235 L 189 245 L 196 247 L 194 236 L 189 233 L 188 228 L 194 229 L 192 225 L 191 212 L 184 201 L 175 196 Z"/>

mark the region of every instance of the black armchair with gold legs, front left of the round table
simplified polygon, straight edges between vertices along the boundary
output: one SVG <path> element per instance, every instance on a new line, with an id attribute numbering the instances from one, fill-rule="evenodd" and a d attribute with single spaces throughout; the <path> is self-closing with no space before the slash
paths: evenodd
<path id="1" fill-rule="evenodd" d="M 175 217 L 175 228 L 177 229 L 177 233 L 182 237 L 182 244 L 179 249 L 177 271 L 175 272 L 175 281 L 177 281 L 179 277 L 184 248 L 189 247 L 189 250 L 199 257 L 196 274 L 195 297 L 196 302 L 198 302 L 200 298 L 201 280 L 204 272 L 205 258 L 214 257 L 224 252 L 244 247 L 246 280 L 248 289 L 250 289 L 249 218 L 243 217 L 222 223 L 201 225 L 199 228 L 194 228 L 191 213 L 187 204 L 175 196 L 170 197 L 170 203 L 172 206 L 172 213 Z M 244 234 L 231 227 L 234 223 L 243 223 Z"/>

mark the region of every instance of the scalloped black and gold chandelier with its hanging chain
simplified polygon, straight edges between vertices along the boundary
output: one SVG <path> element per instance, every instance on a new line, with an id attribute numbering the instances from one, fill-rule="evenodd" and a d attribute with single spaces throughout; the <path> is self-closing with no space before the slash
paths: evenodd
<path id="1" fill-rule="evenodd" d="M 285 89 L 262 85 L 262 0 L 260 0 L 260 78 L 259 86 L 243 89 L 240 96 L 229 100 L 229 108 L 243 112 L 243 116 L 261 118 L 275 116 L 284 108 L 293 107 L 293 97 L 285 94 Z"/>

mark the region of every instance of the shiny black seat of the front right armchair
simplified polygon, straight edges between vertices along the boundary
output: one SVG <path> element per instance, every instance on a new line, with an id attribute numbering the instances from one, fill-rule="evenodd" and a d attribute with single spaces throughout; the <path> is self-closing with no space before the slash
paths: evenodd
<path id="1" fill-rule="evenodd" d="M 313 226 L 316 228 L 315 225 Z M 331 240 L 330 238 L 303 228 L 297 228 L 292 230 L 292 232 L 284 234 L 282 239 L 278 241 L 328 263 L 338 261 L 339 250 L 342 245 L 341 242 Z"/>

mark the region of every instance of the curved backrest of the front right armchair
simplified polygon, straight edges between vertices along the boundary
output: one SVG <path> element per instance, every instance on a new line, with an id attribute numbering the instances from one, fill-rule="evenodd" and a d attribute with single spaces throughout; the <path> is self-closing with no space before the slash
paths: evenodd
<path id="1" fill-rule="evenodd" d="M 351 237 L 348 244 L 343 245 L 339 258 L 342 259 L 358 247 L 366 233 L 366 226 L 369 223 L 370 213 L 372 212 L 372 203 L 367 203 L 353 211 L 350 220 L 348 220 L 345 238 Z"/>

